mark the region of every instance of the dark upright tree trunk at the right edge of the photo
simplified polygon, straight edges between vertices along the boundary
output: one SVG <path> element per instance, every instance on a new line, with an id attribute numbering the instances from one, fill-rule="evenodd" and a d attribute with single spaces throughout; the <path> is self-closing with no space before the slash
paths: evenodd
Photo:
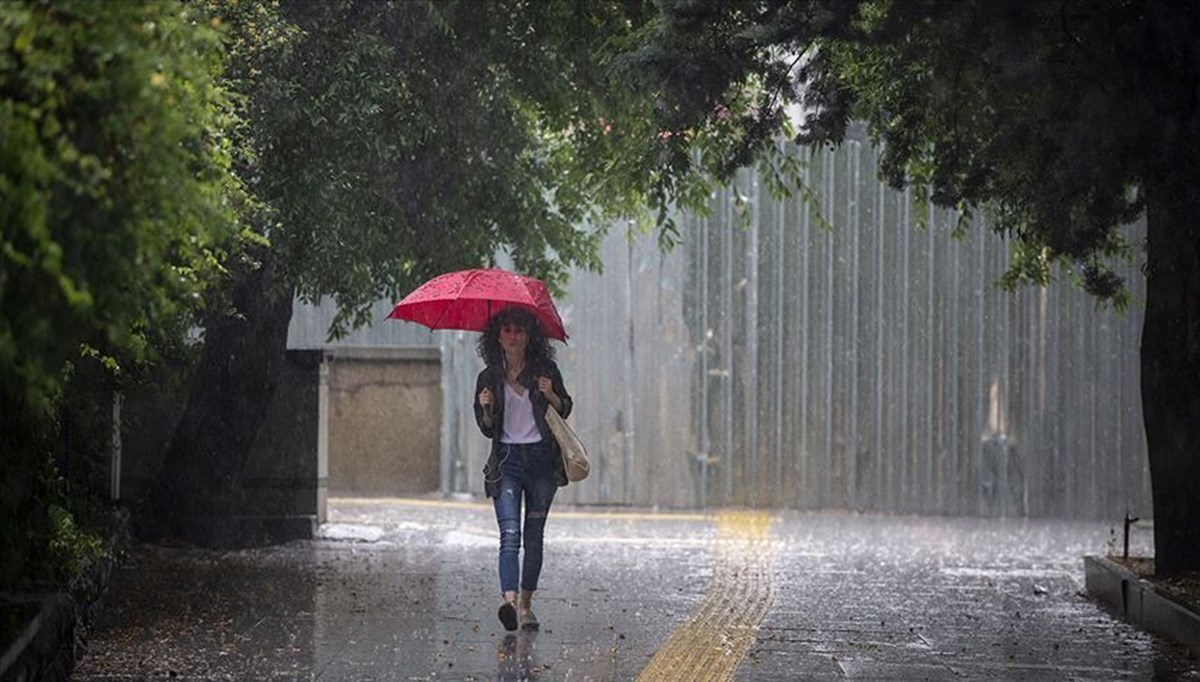
<path id="1" fill-rule="evenodd" d="M 1192 154 L 1176 161 L 1175 177 L 1195 175 Z M 1175 181 L 1150 187 L 1147 199 L 1142 419 L 1154 568 L 1172 575 L 1200 570 L 1200 187 Z"/>

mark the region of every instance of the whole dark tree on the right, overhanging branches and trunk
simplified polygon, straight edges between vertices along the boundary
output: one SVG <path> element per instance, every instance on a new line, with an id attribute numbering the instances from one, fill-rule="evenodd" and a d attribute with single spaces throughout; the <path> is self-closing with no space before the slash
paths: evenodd
<path id="1" fill-rule="evenodd" d="M 1007 283 L 1063 265 L 1123 305 L 1110 264 L 1145 215 L 1142 413 L 1174 574 L 1200 570 L 1196 35 L 1184 0 L 674 0 L 629 60 L 672 130 L 737 122 L 731 166 L 865 121 L 889 184 L 1015 237 Z"/>

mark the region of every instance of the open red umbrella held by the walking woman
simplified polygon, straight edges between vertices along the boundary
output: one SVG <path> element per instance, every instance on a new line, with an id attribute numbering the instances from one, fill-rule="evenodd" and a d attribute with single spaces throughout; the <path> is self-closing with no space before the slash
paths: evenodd
<path id="1" fill-rule="evenodd" d="M 418 322 L 430 329 L 482 331 L 493 315 L 511 306 L 534 313 L 542 334 L 566 342 L 563 319 L 546 285 L 498 268 L 438 275 L 404 297 L 388 317 Z"/>

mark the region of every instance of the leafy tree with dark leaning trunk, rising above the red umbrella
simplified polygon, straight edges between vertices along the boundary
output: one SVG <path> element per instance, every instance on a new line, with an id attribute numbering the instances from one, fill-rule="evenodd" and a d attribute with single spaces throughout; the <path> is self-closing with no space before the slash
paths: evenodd
<path id="1" fill-rule="evenodd" d="M 502 249 L 551 282 L 599 268 L 595 226 L 644 204 L 640 162 L 660 144 L 605 61 L 646 2 L 209 6 L 252 150 L 236 172 L 262 210 L 260 239 L 209 293 L 204 357 L 142 515 L 166 521 L 150 536 L 193 539 L 240 507 L 230 472 L 276 389 L 295 295 L 335 297 L 337 334 L 380 295 Z"/>

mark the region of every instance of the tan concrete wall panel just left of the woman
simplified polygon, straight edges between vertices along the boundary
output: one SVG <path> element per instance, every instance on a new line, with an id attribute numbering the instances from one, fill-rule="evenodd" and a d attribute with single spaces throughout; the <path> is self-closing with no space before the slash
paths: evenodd
<path id="1" fill-rule="evenodd" d="M 438 349 L 330 347 L 325 357 L 330 493 L 389 497 L 438 491 Z"/>

